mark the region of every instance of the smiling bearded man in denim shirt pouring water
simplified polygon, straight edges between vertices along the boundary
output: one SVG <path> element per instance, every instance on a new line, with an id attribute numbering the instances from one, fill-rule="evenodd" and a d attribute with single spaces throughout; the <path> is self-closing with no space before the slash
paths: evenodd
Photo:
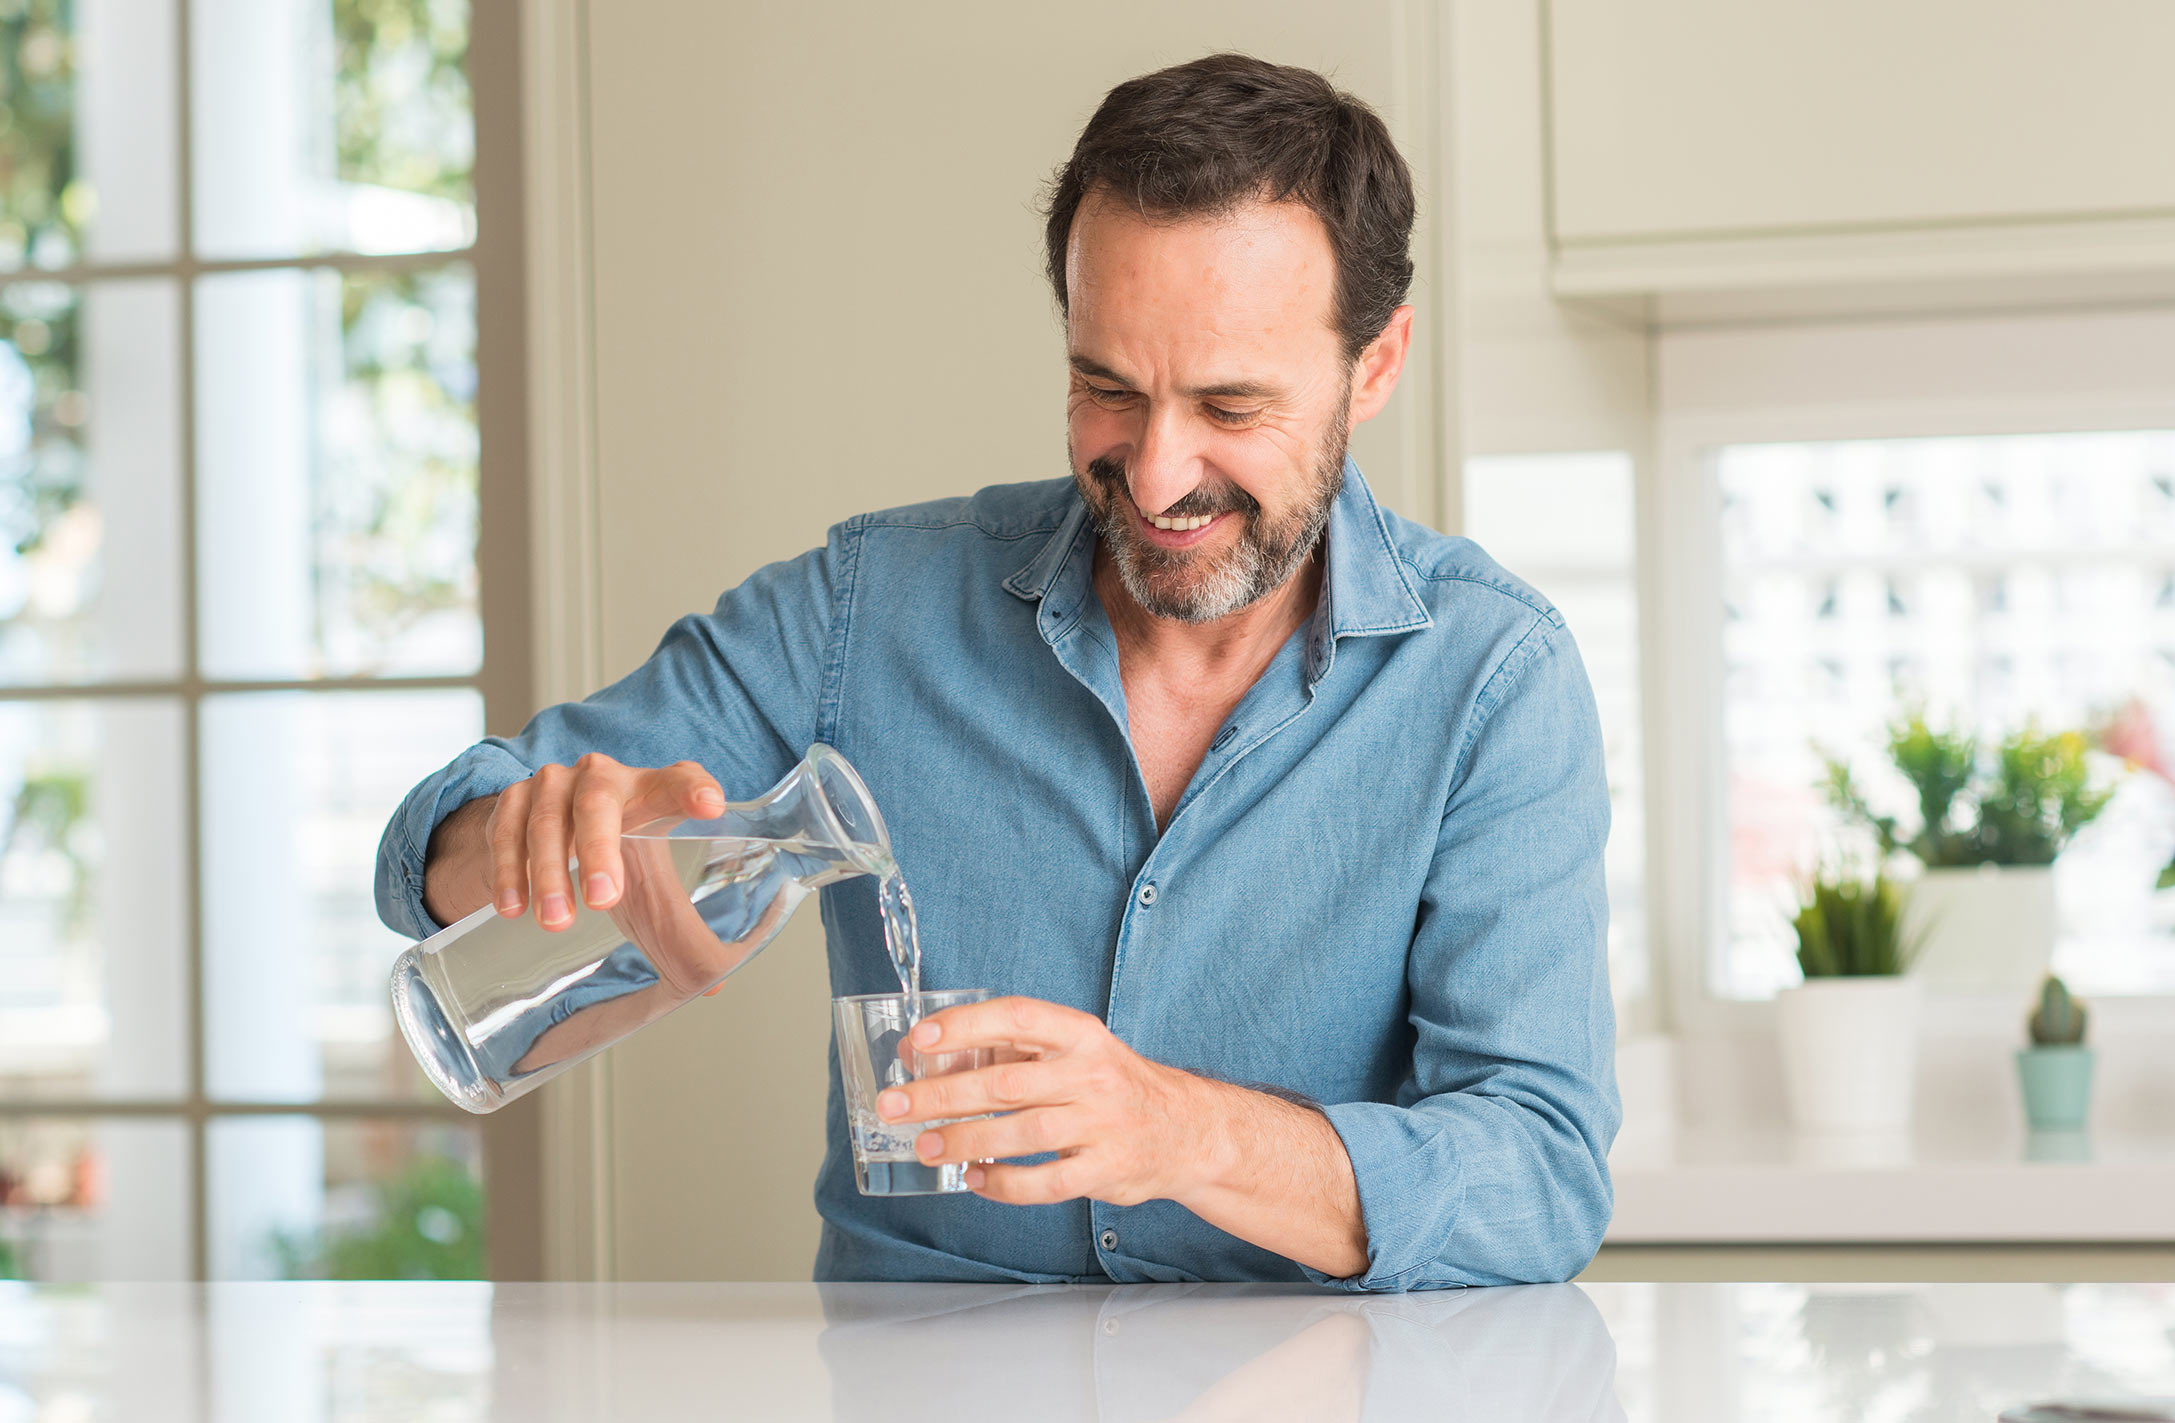
<path id="1" fill-rule="evenodd" d="M 1377 507 L 1344 455 L 1412 342 L 1412 178 L 1318 74 L 1218 54 L 1114 89 L 1059 172 L 1072 479 L 848 520 L 624 681 L 409 794 L 378 903 L 622 890 L 618 831 L 846 753 L 990 988 L 894 1088 L 972 1197 L 853 1186 L 820 1279 L 1564 1279 L 1609 1216 L 1607 788 L 1557 614 Z M 866 879 L 831 983 L 892 979 Z"/>

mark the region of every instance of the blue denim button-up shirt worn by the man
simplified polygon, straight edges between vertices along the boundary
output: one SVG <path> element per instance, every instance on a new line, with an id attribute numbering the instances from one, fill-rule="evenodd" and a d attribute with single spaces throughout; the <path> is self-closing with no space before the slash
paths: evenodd
<path id="1" fill-rule="evenodd" d="M 1368 1266 L 1329 1279 L 1172 1201 L 861 1197 L 833 1053 L 818 1279 L 1568 1279 L 1609 1218 L 1618 1103 L 1609 796 L 1562 618 L 1346 466 L 1320 605 L 1157 833 L 1094 540 L 1072 481 L 846 520 L 409 792 L 385 923 L 437 927 L 431 829 L 537 766 L 694 759 L 753 799 L 829 742 L 890 822 L 931 988 L 1068 1003 L 1155 1062 L 1318 1101 Z M 822 920 L 833 992 L 896 986 L 872 881 L 822 890 Z"/>

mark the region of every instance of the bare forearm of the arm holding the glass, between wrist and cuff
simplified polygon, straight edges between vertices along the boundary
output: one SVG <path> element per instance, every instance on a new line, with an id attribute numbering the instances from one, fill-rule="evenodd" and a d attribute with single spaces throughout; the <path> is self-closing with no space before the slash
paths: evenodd
<path id="1" fill-rule="evenodd" d="M 1366 1273 L 1359 1184 L 1329 1118 L 1268 1092 L 1194 1081 L 1201 1158 L 1179 1205 L 1325 1275 Z"/>

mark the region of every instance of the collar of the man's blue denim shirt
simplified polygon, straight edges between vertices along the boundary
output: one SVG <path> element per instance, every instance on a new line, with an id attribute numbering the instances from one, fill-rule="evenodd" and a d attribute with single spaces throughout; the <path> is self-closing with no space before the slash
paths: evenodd
<path id="1" fill-rule="evenodd" d="M 1433 627 L 1427 605 L 1412 587 L 1412 577 L 1390 542 L 1390 524 L 1375 503 L 1359 466 L 1346 455 L 1344 487 L 1329 507 L 1329 561 L 1322 570 L 1322 598 L 1307 620 L 1307 683 L 1329 672 L 1338 638 L 1375 638 Z M 1079 620 L 1079 605 L 1090 592 L 1094 555 L 1094 522 L 1079 490 L 1072 492 L 1066 516 L 1022 564 L 1005 587 L 1027 601 L 1042 601 L 1042 638 L 1057 642 Z"/>

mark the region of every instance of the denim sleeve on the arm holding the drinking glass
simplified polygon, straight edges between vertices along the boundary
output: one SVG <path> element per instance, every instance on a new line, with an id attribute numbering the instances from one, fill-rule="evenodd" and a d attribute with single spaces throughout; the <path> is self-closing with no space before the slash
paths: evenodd
<path id="1" fill-rule="evenodd" d="M 1368 1269 L 1409 1290 L 1570 1279 L 1614 1208 L 1616 1025 L 1592 688 L 1542 618 L 1475 703 L 1409 951 L 1414 1071 L 1325 1108 L 1359 1184 Z"/>

